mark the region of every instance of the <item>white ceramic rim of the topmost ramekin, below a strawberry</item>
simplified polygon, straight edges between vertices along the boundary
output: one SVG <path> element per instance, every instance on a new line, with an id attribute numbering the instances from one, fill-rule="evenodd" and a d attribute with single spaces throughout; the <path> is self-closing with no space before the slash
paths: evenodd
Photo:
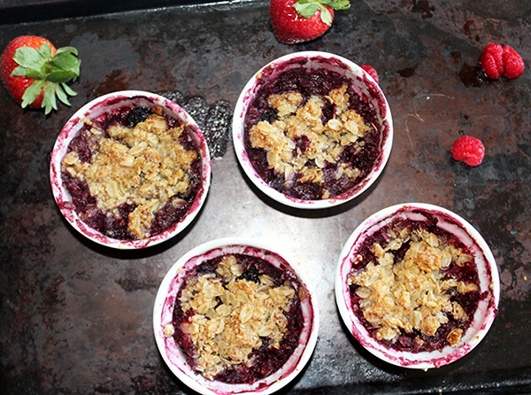
<path id="1" fill-rule="evenodd" d="M 247 153 L 245 151 L 244 143 L 243 143 L 243 132 L 244 132 L 243 129 L 244 129 L 245 114 L 247 112 L 247 109 L 249 108 L 252 95 L 255 93 L 256 89 L 258 88 L 258 81 L 260 81 L 260 77 L 262 73 L 268 67 L 274 67 L 275 65 L 279 65 L 281 63 L 287 62 L 293 58 L 303 58 L 303 57 L 316 58 L 318 60 L 319 58 L 333 58 L 333 59 L 338 60 L 343 66 L 347 67 L 348 73 L 354 74 L 358 76 L 358 78 L 363 78 L 366 85 L 370 89 L 376 90 L 379 93 L 379 96 L 383 98 L 383 102 L 385 104 L 385 115 L 381 117 L 381 114 L 379 114 L 379 117 L 382 118 L 382 122 L 385 121 L 389 125 L 389 133 L 387 134 L 387 136 L 384 136 L 384 140 L 381 143 L 381 155 L 380 155 L 380 158 L 377 159 L 377 162 L 375 166 L 373 167 L 372 172 L 367 175 L 366 180 L 364 182 L 361 182 L 358 185 L 354 193 L 352 193 L 352 191 L 347 191 L 338 197 L 322 199 L 322 200 L 304 200 L 304 199 L 298 199 L 296 197 L 289 197 L 287 195 L 282 194 L 278 190 L 274 190 L 273 188 L 271 188 L 257 174 L 254 167 L 252 167 L 250 163 L 250 159 L 247 156 Z M 233 143 L 235 146 L 236 156 L 243 168 L 243 171 L 250 178 L 250 181 L 253 182 L 254 185 L 258 187 L 259 190 L 264 192 L 268 197 L 273 198 L 274 200 L 276 200 L 277 202 L 280 202 L 281 204 L 289 205 L 291 207 L 302 208 L 302 209 L 321 209 L 321 208 L 333 207 L 335 205 L 342 205 L 343 203 L 350 201 L 354 197 L 358 197 L 365 190 L 367 190 L 373 184 L 373 182 L 375 182 L 378 179 L 378 177 L 380 176 L 381 172 L 383 171 L 383 168 L 385 167 L 389 159 L 389 155 L 391 152 L 391 148 L 393 144 L 393 121 L 392 121 L 389 103 L 387 101 L 387 98 L 381 91 L 380 86 L 360 66 L 356 65 L 355 63 L 353 63 L 351 60 L 347 58 L 342 58 L 341 56 L 338 56 L 332 53 L 323 52 L 323 51 L 314 51 L 314 50 L 301 51 L 301 52 L 294 52 L 289 55 L 282 56 L 281 58 L 274 59 L 272 62 L 268 63 L 266 66 L 263 66 L 262 68 L 260 68 L 260 70 L 258 70 L 258 72 L 254 74 L 250 78 L 250 80 L 247 82 L 245 87 L 242 89 L 242 93 L 240 94 L 240 97 L 238 98 L 236 105 L 235 105 L 235 112 L 233 115 Z"/>

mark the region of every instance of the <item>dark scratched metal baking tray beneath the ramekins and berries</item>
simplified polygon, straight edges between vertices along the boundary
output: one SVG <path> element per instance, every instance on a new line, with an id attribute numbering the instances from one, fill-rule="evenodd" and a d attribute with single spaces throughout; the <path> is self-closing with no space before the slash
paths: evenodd
<path id="1" fill-rule="evenodd" d="M 531 392 L 531 72 L 485 81 L 481 50 L 510 44 L 531 59 L 527 0 L 351 0 L 317 40 L 274 38 L 265 0 L 195 3 L 0 1 L 0 47 L 42 35 L 79 50 L 72 106 L 45 116 L 0 89 L 0 392 L 191 394 L 161 359 L 151 329 L 158 285 L 198 244 L 248 236 L 301 262 L 317 290 L 321 325 L 312 360 L 286 394 Z M 173 92 L 209 123 L 227 114 L 261 66 L 325 50 L 380 74 L 395 125 L 378 182 L 346 205 L 300 211 L 275 204 L 246 179 L 228 129 L 214 130 L 212 187 L 202 212 L 172 240 L 142 251 L 91 243 L 61 216 L 50 151 L 89 100 L 121 89 Z M 529 66 L 529 65 L 527 65 Z M 220 106 L 220 107 L 219 107 Z M 479 137 L 479 167 L 450 157 Z M 422 202 L 458 213 L 490 245 L 501 277 L 499 314 L 462 360 L 425 371 L 375 359 L 347 333 L 334 298 L 335 265 L 350 233 L 389 205 Z"/>

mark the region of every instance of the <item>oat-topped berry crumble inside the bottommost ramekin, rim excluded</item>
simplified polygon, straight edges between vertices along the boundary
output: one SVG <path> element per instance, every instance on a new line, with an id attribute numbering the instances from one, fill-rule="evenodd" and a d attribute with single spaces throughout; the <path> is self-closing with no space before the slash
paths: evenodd
<path id="1" fill-rule="evenodd" d="M 176 294 L 173 337 L 208 380 L 255 383 L 283 367 L 304 327 L 307 295 L 295 273 L 245 253 L 225 253 L 186 274 Z"/>

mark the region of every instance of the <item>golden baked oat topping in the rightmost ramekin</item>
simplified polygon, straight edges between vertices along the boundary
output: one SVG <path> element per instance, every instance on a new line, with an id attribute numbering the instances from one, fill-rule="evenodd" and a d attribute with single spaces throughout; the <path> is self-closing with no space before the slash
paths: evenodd
<path id="1" fill-rule="evenodd" d="M 404 258 L 395 259 L 403 245 L 407 246 Z M 362 270 L 353 269 L 347 283 L 358 286 L 359 306 L 366 321 L 377 329 L 377 340 L 395 341 L 402 331 L 410 334 L 413 330 L 434 337 L 450 317 L 468 319 L 463 306 L 451 296 L 477 291 L 478 286 L 447 275 L 445 269 L 451 264 L 462 266 L 472 256 L 434 233 L 407 227 L 391 229 L 389 243 L 383 247 L 374 243 L 372 252 L 376 261 Z M 446 340 L 455 346 L 462 335 L 463 330 L 456 328 Z"/>

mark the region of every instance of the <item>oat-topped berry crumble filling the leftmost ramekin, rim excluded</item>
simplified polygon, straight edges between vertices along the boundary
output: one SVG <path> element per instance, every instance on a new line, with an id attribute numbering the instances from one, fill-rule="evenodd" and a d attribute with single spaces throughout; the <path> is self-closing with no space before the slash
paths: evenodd
<path id="1" fill-rule="evenodd" d="M 180 222 L 201 189 L 201 153 L 189 128 L 160 106 L 85 119 L 61 162 L 81 221 L 119 240 L 146 239 Z"/>

